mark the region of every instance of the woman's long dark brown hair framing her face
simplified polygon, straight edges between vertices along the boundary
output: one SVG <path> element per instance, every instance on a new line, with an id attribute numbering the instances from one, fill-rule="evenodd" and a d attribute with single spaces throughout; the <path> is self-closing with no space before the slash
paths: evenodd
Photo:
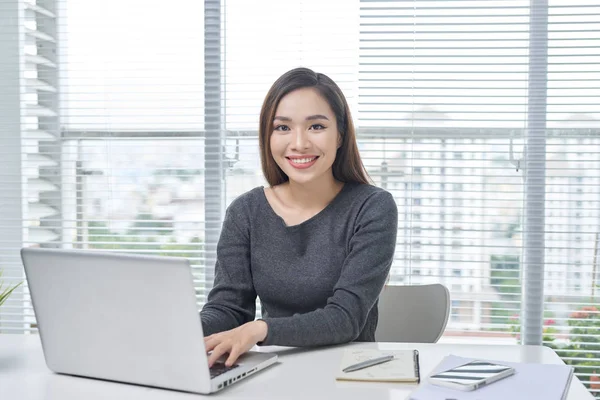
<path id="1" fill-rule="evenodd" d="M 333 177 L 340 182 L 370 183 L 360 159 L 350 108 L 342 90 L 325 74 L 314 72 L 308 68 L 295 68 L 281 75 L 273 83 L 260 110 L 260 159 L 263 174 L 269 185 L 276 186 L 289 180 L 271 153 L 270 139 L 277 106 L 285 95 L 302 88 L 317 90 L 329 103 L 329 107 L 335 114 L 341 145 L 333 162 Z"/>

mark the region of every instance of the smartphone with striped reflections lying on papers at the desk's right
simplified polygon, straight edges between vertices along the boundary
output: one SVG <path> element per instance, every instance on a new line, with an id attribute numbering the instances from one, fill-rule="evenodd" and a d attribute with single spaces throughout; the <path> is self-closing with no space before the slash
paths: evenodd
<path id="1" fill-rule="evenodd" d="M 428 380 L 433 385 L 471 391 L 511 376 L 514 373 L 515 369 L 507 365 L 487 361 L 471 361 L 467 364 L 430 375 Z"/>

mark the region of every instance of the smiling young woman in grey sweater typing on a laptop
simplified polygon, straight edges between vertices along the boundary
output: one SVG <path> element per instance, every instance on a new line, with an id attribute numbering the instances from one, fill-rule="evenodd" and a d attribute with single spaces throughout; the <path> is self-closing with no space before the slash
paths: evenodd
<path id="1" fill-rule="evenodd" d="M 229 354 L 230 366 L 257 343 L 374 341 L 398 210 L 368 183 L 342 91 L 310 69 L 285 73 L 267 93 L 259 136 L 270 187 L 227 209 L 200 313 L 209 364 Z"/>

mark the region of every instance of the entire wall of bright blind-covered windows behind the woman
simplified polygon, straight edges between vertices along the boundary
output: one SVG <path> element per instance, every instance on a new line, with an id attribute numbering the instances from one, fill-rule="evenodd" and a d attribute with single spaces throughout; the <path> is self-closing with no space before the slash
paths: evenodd
<path id="1" fill-rule="evenodd" d="M 266 184 L 262 100 L 307 66 L 338 82 L 396 198 L 390 283 L 449 288 L 442 340 L 541 327 L 595 393 L 596 3 L 0 0 L 5 280 L 21 246 L 183 256 L 202 303 L 225 207 Z M 0 331 L 30 330 L 24 286 Z"/>

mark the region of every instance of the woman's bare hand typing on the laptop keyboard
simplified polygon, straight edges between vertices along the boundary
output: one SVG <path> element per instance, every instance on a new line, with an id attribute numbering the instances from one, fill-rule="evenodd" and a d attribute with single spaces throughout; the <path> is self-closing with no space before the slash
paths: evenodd
<path id="1" fill-rule="evenodd" d="M 213 364 L 225 353 L 229 353 L 225 365 L 231 367 L 239 356 L 250 350 L 256 343 L 267 337 L 267 323 L 252 321 L 240 327 L 225 332 L 215 333 L 204 338 L 206 351 L 212 350 L 208 357 L 208 366 Z"/>

